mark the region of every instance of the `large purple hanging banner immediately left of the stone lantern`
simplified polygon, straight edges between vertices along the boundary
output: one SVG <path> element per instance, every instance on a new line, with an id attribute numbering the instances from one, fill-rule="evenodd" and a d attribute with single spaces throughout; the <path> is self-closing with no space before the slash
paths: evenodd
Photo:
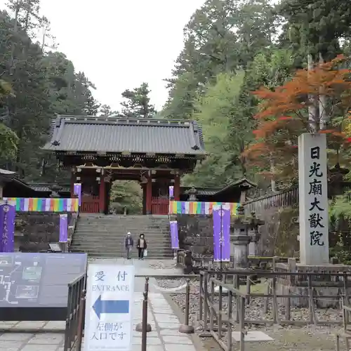
<path id="1" fill-rule="evenodd" d="M 230 261 L 230 208 L 213 207 L 213 260 Z"/>

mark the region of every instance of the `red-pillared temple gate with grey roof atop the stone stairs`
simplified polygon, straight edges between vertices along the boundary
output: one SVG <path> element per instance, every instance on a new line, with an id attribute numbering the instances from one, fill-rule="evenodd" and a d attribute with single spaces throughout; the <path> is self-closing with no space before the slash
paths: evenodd
<path id="1" fill-rule="evenodd" d="M 51 140 L 60 164 L 81 183 L 81 212 L 108 213 L 114 180 L 136 180 L 143 189 L 143 214 L 167 215 L 168 189 L 180 200 L 180 176 L 206 157 L 196 121 L 60 116 Z"/>

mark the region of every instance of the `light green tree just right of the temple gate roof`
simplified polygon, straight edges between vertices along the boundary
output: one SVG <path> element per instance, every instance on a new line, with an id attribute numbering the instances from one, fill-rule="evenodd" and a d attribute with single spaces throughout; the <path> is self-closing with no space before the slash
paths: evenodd
<path id="1" fill-rule="evenodd" d="M 204 131 L 206 150 L 210 156 L 199 164 L 184 183 L 199 187 L 218 187 L 246 175 L 246 161 L 241 156 L 249 142 L 250 119 L 237 114 L 244 72 L 218 74 L 216 84 L 208 84 L 196 103 L 194 119 Z M 235 138 L 230 138 L 232 131 Z"/>

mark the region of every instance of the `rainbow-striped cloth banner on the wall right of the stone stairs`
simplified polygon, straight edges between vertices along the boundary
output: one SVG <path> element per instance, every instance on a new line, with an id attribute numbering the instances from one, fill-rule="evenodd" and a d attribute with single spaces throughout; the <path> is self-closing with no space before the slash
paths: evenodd
<path id="1" fill-rule="evenodd" d="M 237 216 L 239 204 L 234 202 L 169 201 L 170 215 L 211 215 L 214 206 L 230 207 L 230 215 Z"/>

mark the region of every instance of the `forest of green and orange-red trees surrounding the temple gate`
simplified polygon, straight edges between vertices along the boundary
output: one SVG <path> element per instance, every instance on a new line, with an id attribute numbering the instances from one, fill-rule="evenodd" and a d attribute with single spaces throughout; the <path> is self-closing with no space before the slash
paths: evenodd
<path id="1" fill-rule="evenodd" d="M 0 167 L 27 182 L 69 183 L 41 150 L 51 120 L 100 114 L 199 121 L 209 156 L 183 185 L 220 188 L 246 177 L 258 185 L 251 196 L 296 186 L 297 137 L 313 124 L 328 134 L 329 169 L 344 167 L 347 183 L 350 39 L 346 0 L 207 0 L 185 25 L 164 108 L 154 109 L 145 82 L 112 111 L 55 50 L 40 0 L 9 0 L 0 11 Z M 332 218 L 351 220 L 349 199 L 347 188 L 333 197 Z M 138 213 L 141 202 L 137 183 L 114 186 L 113 211 Z"/>

